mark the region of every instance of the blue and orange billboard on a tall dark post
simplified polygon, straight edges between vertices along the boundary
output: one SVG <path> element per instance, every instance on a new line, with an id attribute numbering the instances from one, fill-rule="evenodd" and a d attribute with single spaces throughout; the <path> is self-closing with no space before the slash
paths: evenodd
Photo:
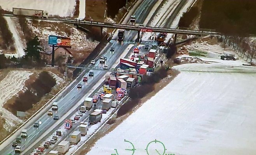
<path id="1" fill-rule="evenodd" d="M 70 38 L 63 36 L 49 35 L 48 44 L 56 47 L 71 48 Z"/>

